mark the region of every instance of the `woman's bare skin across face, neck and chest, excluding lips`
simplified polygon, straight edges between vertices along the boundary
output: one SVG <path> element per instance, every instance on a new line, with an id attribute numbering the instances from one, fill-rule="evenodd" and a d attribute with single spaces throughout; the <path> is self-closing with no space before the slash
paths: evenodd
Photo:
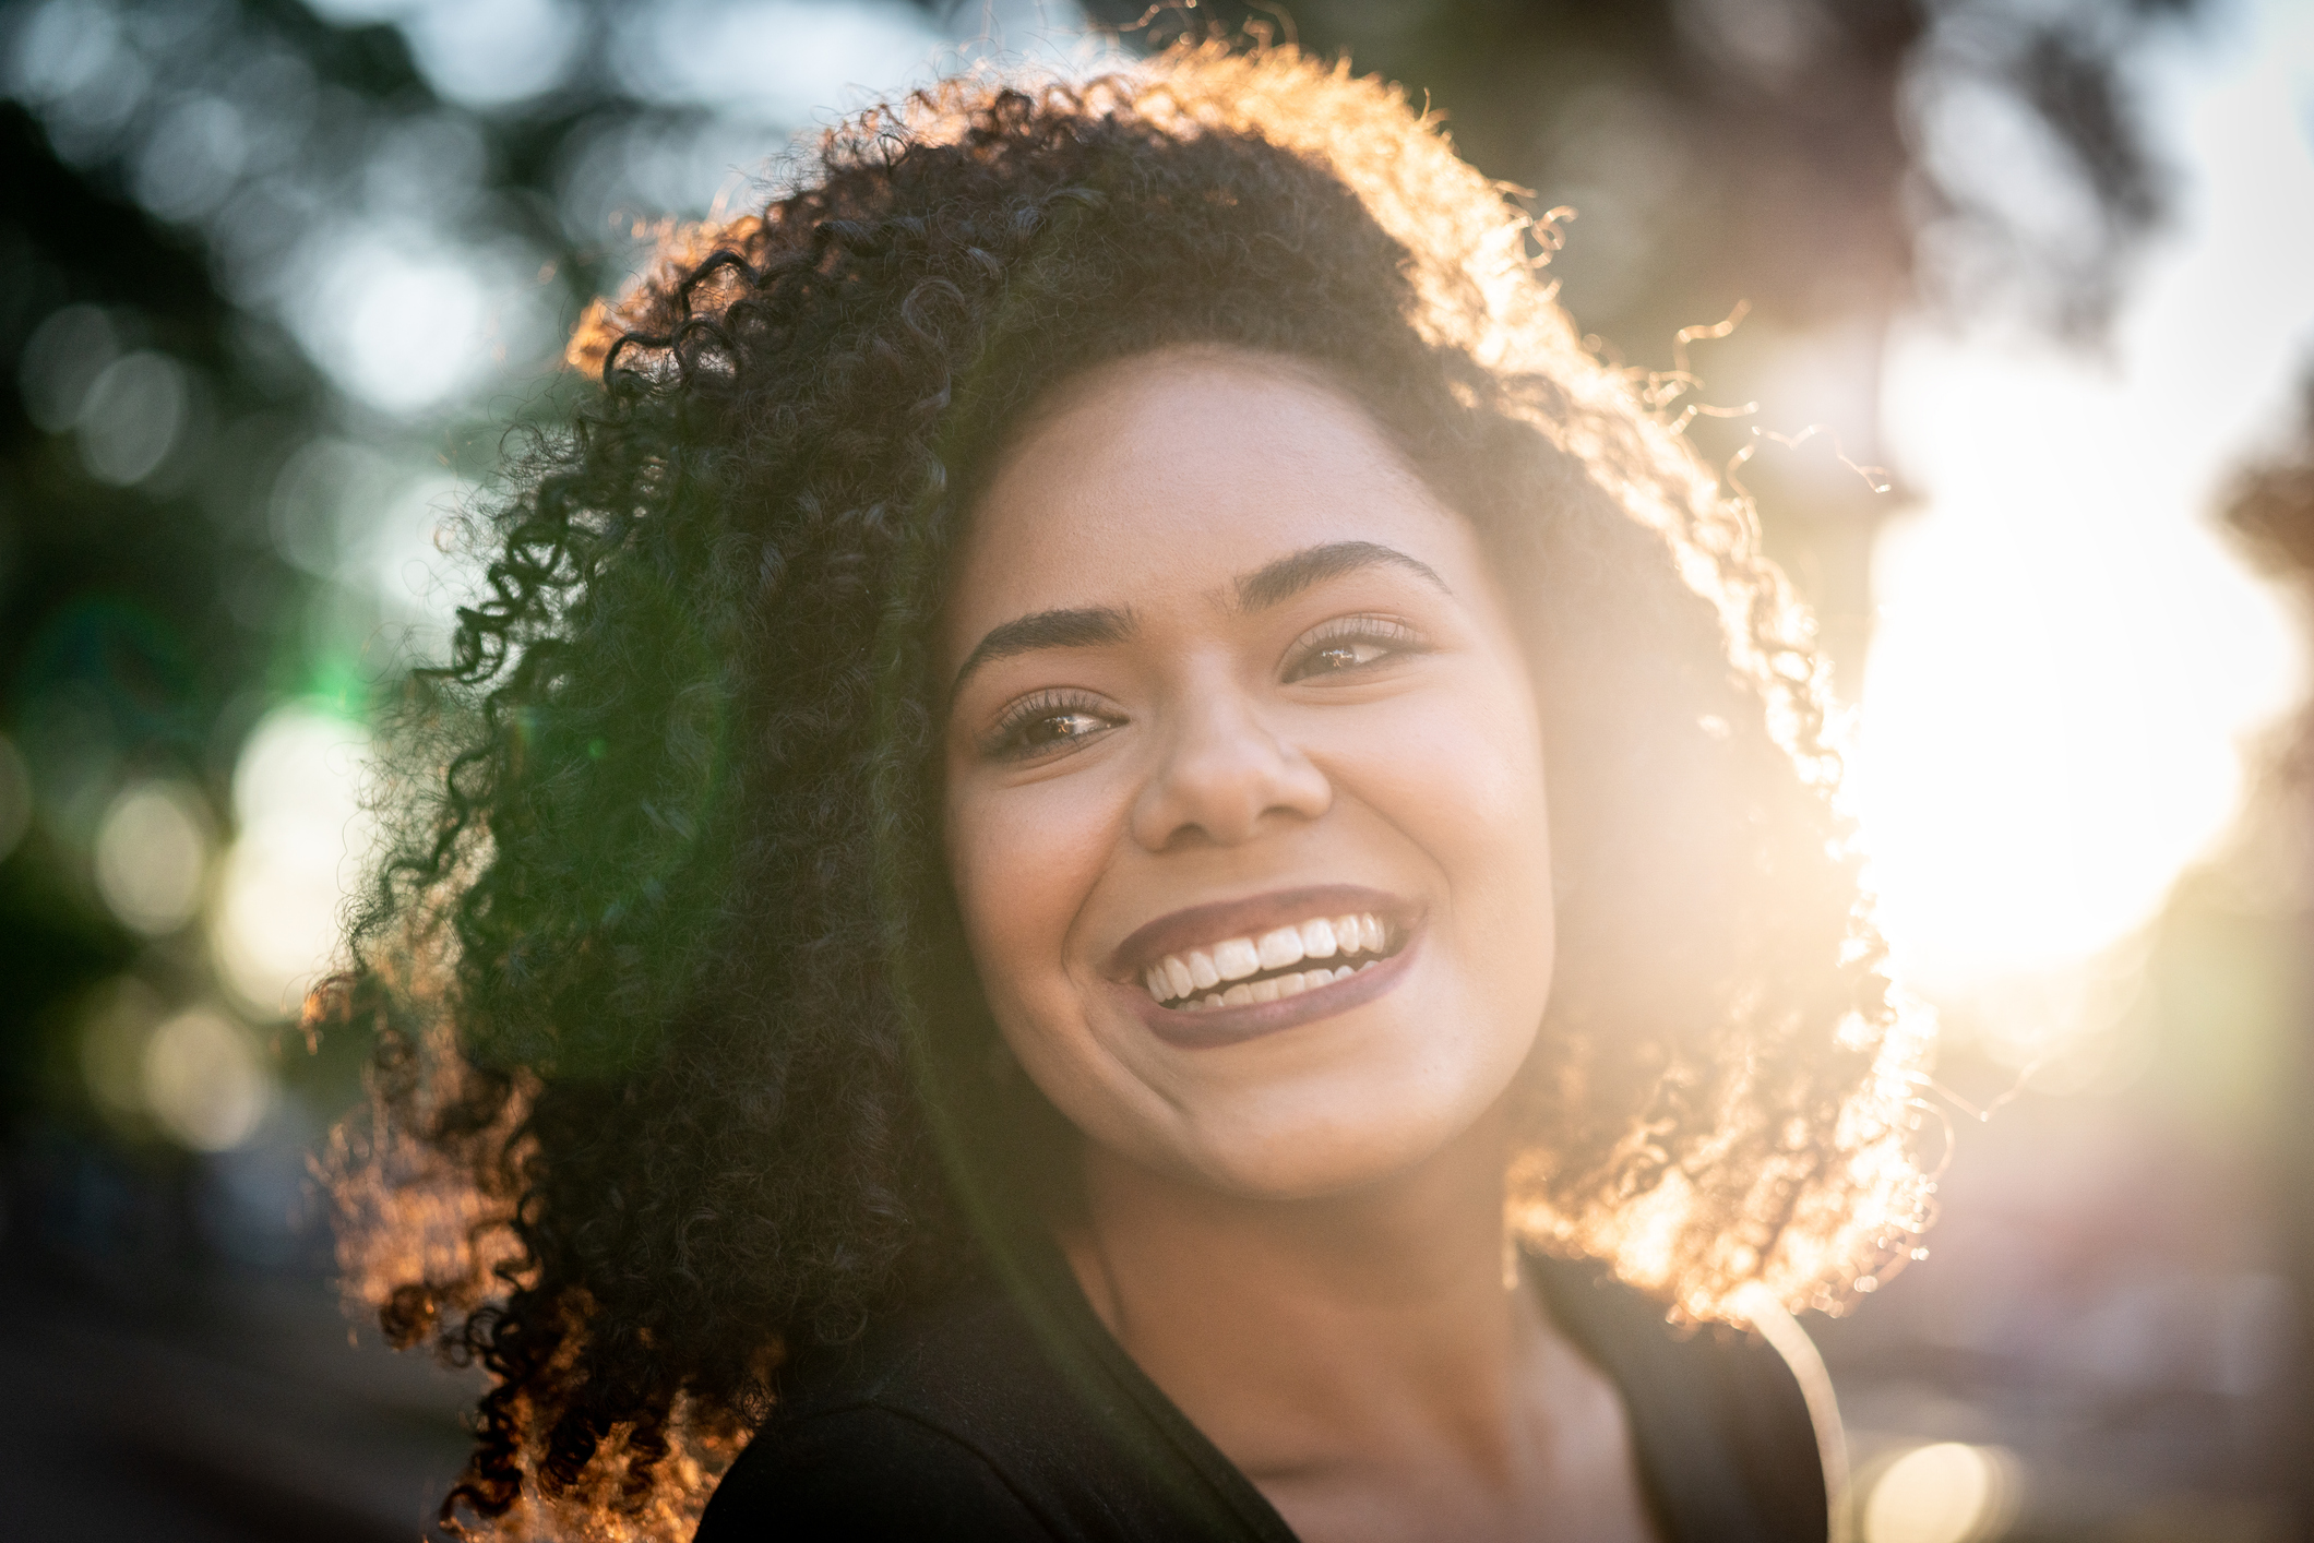
<path id="1" fill-rule="evenodd" d="M 946 830 L 1004 1041 L 1088 1136 L 1062 1245 L 1095 1309 L 1312 1543 L 1650 1536 L 1620 1397 L 1502 1284 L 1550 844 L 1476 534 L 1305 370 L 1169 349 L 1009 449 L 949 671 L 1055 611 L 958 680 Z M 1257 932 L 1305 886 L 1377 895 L 1402 958 L 1294 1013 L 1143 990 L 1152 925 Z"/>

